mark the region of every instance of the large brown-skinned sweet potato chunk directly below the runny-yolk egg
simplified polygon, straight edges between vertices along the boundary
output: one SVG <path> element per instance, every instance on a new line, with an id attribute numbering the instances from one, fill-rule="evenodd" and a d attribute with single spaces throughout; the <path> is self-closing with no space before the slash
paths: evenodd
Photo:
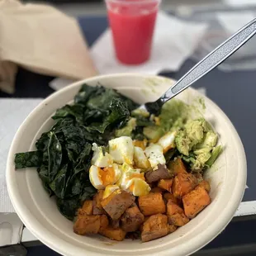
<path id="1" fill-rule="evenodd" d="M 126 209 L 135 201 L 135 197 L 130 193 L 117 189 L 107 198 L 102 200 L 102 207 L 112 220 L 118 220 Z"/>

